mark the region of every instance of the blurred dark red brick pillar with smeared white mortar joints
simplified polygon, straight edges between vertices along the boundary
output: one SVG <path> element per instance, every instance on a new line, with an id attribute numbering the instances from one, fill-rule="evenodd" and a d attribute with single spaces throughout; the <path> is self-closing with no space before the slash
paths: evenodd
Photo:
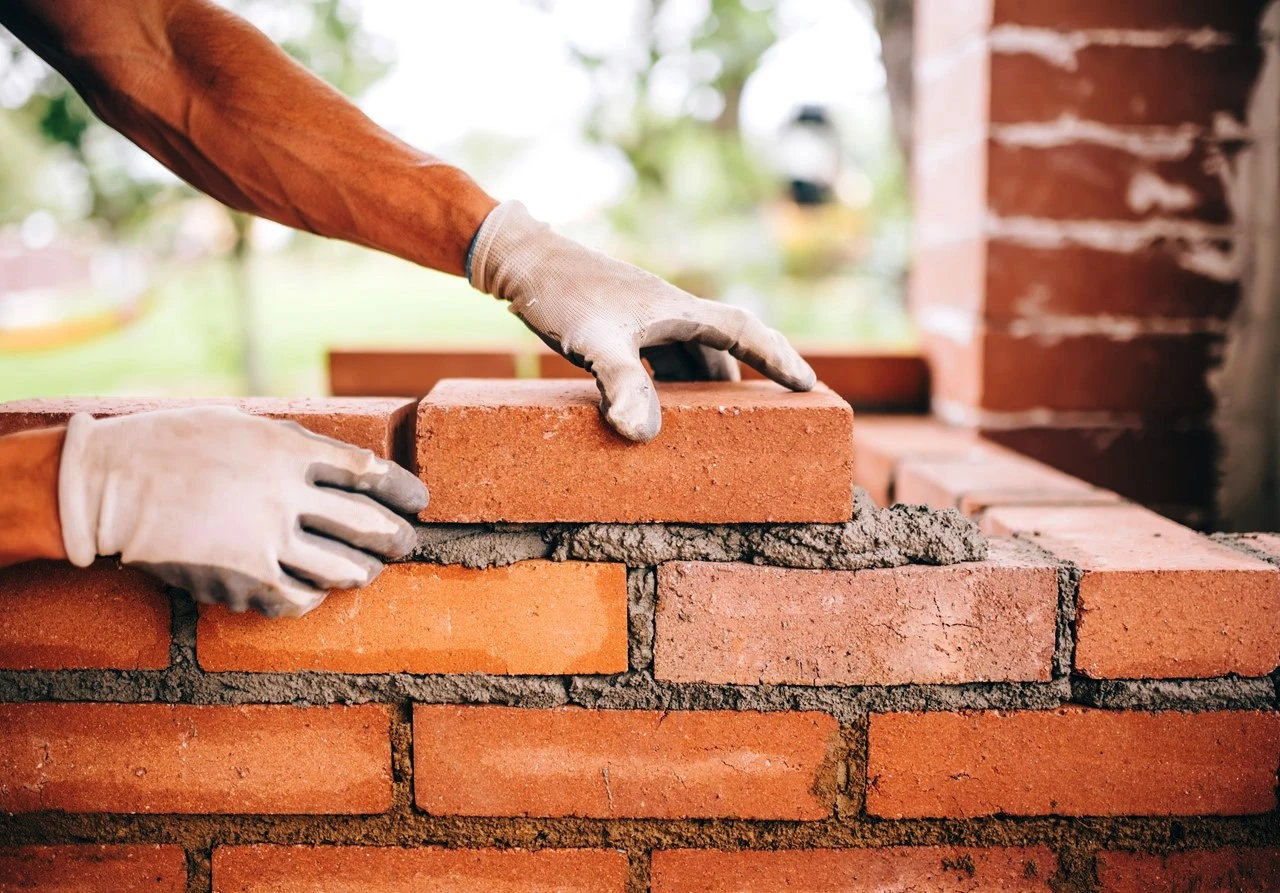
<path id="1" fill-rule="evenodd" d="M 919 0 L 934 411 L 1193 523 L 1240 292 L 1263 0 Z"/>

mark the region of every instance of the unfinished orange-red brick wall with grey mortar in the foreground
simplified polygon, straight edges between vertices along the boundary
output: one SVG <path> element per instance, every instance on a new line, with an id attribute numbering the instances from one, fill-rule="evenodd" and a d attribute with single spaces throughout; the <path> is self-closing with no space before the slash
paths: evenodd
<path id="1" fill-rule="evenodd" d="M 1277 888 L 1276 537 L 829 391 L 667 388 L 644 446 L 593 394 L 271 406 L 439 496 L 305 618 L 0 571 L 0 890 Z"/>

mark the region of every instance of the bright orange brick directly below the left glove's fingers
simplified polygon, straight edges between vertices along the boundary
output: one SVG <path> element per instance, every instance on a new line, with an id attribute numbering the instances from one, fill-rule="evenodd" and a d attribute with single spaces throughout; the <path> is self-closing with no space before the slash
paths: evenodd
<path id="1" fill-rule="evenodd" d="M 306 617 L 201 608 L 196 649 L 206 670 L 621 673 L 627 572 L 581 562 L 390 564 Z"/>

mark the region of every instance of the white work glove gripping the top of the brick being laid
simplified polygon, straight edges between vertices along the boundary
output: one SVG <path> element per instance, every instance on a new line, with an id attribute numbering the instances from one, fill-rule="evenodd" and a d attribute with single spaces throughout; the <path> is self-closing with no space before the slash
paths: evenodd
<path id="1" fill-rule="evenodd" d="M 792 390 L 815 383 L 782 333 L 740 307 L 695 298 L 658 276 L 557 235 L 520 202 L 498 205 L 471 246 L 467 275 L 547 344 L 595 376 L 600 412 L 618 434 L 652 440 L 659 380 L 739 379 L 730 354 Z M 728 351 L 728 353 L 723 353 Z"/>

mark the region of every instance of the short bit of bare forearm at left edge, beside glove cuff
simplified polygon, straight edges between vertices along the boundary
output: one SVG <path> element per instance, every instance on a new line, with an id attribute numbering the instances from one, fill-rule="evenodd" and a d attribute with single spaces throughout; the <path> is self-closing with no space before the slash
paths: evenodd
<path id="1" fill-rule="evenodd" d="M 58 468 L 65 429 L 0 438 L 0 567 L 67 558 L 58 521 Z"/>

